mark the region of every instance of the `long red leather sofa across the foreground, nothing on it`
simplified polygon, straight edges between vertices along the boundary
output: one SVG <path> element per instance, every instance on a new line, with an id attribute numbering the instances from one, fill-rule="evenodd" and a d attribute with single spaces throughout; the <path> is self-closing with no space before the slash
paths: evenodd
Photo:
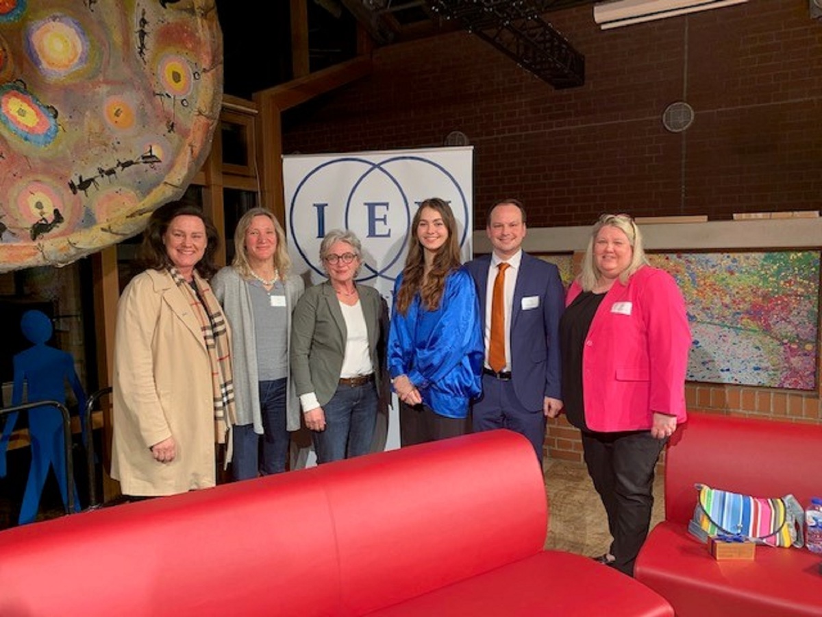
<path id="1" fill-rule="evenodd" d="M 544 551 L 506 430 L 0 531 L 0 615 L 673 615 Z"/>

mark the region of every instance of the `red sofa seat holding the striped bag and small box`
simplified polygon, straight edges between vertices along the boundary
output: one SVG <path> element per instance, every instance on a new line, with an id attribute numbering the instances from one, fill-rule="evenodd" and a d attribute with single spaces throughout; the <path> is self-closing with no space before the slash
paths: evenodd
<path id="1" fill-rule="evenodd" d="M 820 555 L 757 546 L 753 561 L 717 561 L 680 523 L 661 522 L 636 560 L 635 577 L 677 617 L 822 615 Z"/>

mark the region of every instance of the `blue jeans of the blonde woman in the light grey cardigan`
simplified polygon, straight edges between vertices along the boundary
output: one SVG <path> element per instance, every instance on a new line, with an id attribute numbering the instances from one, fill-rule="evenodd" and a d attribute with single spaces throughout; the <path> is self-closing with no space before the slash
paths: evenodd
<path id="1" fill-rule="evenodd" d="M 233 428 L 231 470 L 234 480 L 248 480 L 285 471 L 291 439 L 289 431 L 285 429 L 285 384 L 285 378 L 260 382 L 262 435 L 254 432 L 253 424 Z"/>

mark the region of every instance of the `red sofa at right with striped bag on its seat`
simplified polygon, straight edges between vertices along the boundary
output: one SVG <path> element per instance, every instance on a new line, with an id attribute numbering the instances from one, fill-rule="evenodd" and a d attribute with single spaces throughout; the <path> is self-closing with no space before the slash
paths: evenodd
<path id="1" fill-rule="evenodd" d="M 665 520 L 649 534 L 635 578 L 677 615 L 822 615 L 822 557 L 757 546 L 753 561 L 717 561 L 688 533 L 695 483 L 782 497 L 804 506 L 822 492 L 822 426 L 689 413 L 665 455 Z"/>

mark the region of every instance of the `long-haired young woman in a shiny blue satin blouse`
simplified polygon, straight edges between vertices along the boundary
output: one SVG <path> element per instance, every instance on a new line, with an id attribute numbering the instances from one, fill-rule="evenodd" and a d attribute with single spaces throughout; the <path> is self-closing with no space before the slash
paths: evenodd
<path id="1" fill-rule="evenodd" d="M 469 401 L 482 392 L 484 355 L 477 292 L 459 259 L 450 206 L 425 200 L 411 230 L 388 336 L 403 446 L 470 432 Z"/>

